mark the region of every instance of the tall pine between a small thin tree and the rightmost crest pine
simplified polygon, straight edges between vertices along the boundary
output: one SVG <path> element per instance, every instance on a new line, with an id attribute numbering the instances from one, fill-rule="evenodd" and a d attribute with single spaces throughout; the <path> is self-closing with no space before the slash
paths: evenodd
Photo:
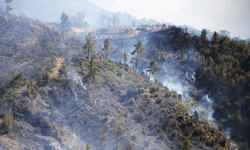
<path id="1" fill-rule="evenodd" d="M 135 64 L 135 68 L 137 70 L 138 60 L 142 57 L 145 57 L 147 52 L 140 39 L 138 40 L 136 44 L 134 44 L 134 47 L 135 47 L 135 50 L 131 52 L 131 55 L 135 55 L 135 57 L 131 59 L 130 63 Z"/>

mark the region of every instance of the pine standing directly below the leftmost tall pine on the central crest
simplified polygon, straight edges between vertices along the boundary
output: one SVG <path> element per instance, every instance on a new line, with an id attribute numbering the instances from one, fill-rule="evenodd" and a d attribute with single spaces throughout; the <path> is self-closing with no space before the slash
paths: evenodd
<path id="1" fill-rule="evenodd" d="M 90 62 L 87 64 L 89 69 L 89 73 L 85 75 L 82 79 L 83 85 L 87 85 L 87 94 L 89 95 L 89 91 L 92 89 L 92 84 L 99 84 L 102 82 L 102 78 L 98 77 L 100 68 L 95 65 L 94 57 L 92 56 Z"/>

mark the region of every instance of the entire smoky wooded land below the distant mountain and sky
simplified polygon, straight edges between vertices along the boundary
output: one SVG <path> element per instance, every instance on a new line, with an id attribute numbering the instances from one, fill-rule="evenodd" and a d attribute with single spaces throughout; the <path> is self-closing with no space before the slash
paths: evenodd
<path id="1" fill-rule="evenodd" d="M 1 148 L 249 149 L 250 41 L 119 13 L 102 12 L 97 29 L 85 11 L 44 22 L 11 14 L 11 1 L 0 11 Z"/>

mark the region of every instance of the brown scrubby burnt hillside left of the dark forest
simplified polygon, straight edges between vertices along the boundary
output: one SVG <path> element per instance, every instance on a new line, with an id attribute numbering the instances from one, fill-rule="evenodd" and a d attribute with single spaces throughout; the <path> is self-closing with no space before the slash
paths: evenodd
<path id="1" fill-rule="evenodd" d="M 100 58 L 102 39 L 97 39 L 93 53 L 102 82 L 88 93 L 81 81 L 90 61 L 82 54 L 83 39 L 62 37 L 32 20 L 0 17 L 0 24 L 0 142 L 5 149 L 85 149 L 87 143 L 99 149 L 104 127 L 103 146 L 113 149 L 118 119 L 120 149 L 181 149 L 180 143 L 184 148 L 192 144 L 193 149 L 237 149 L 216 125 L 191 111 L 184 95 L 172 87 L 150 81 L 145 88 L 147 75 Z M 163 34 L 164 30 L 111 39 L 116 49 L 111 59 L 121 61 L 124 49 L 131 51 L 139 38 L 147 50 L 159 41 L 165 44 L 169 38 Z M 156 57 L 150 53 L 139 70 Z"/>

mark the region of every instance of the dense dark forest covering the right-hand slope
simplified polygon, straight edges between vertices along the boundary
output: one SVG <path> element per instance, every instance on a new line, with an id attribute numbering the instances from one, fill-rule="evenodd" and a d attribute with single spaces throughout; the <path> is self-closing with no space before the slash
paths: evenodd
<path id="1" fill-rule="evenodd" d="M 245 132 L 250 127 L 249 87 L 250 87 L 250 42 L 234 40 L 228 36 L 214 32 L 211 39 L 207 38 L 207 30 L 203 29 L 200 36 L 191 36 L 187 30 L 178 27 L 170 27 L 166 30 L 170 37 L 171 51 L 180 63 L 188 63 L 190 59 L 201 64 L 198 70 L 197 81 L 199 86 L 206 87 L 211 96 L 228 95 L 236 89 L 241 89 L 237 95 L 245 98 L 228 97 L 225 101 L 218 102 L 215 106 L 214 117 L 220 120 L 222 128 L 232 129 L 232 138 L 238 141 L 241 148 L 247 148 L 246 141 L 250 142 L 250 134 Z M 170 53 L 165 48 L 164 41 L 159 43 L 154 51 L 155 56 L 162 53 Z M 188 56 L 186 51 L 194 47 L 200 55 Z M 160 57 L 159 57 L 160 58 Z M 227 83 L 220 87 L 212 86 L 212 83 Z M 229 83 L 229 84 L 228 84 Z M 228 86 L 230 85 L 231 86 Z M 226 86 L 226 87 L 225 87 Z M 239 92 L 235 92 L 235 95 Z M 214 98 L 217 101 L 216 98 Z"/>

